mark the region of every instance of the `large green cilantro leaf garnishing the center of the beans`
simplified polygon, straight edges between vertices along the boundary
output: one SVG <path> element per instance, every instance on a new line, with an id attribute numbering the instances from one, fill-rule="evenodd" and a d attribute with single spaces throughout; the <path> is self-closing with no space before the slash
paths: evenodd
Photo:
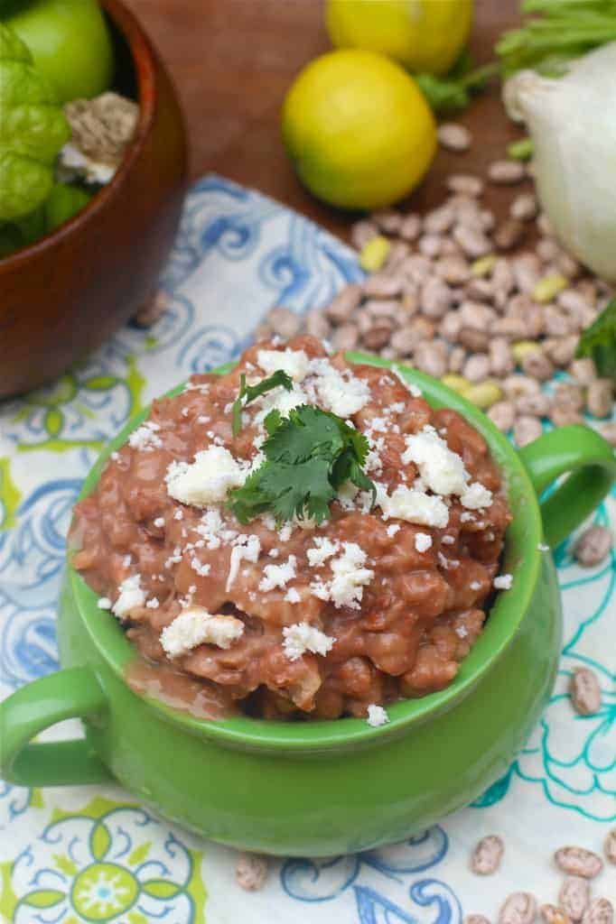
<path id="1" fill-rule="evenodd" d="M 240 523 L 266 511 L 278 524 L 294 516 L 322 523 L 347 480 L 372 492 L 374 502 L 375 485 L 362 468 L 368 454 L 363 433 L 309 405 L 293 408 L 286 419 L 274 409 L 264 422 L 269 433 L 262 447 L 265 461 L 229 495 L 228 506 Z"/>

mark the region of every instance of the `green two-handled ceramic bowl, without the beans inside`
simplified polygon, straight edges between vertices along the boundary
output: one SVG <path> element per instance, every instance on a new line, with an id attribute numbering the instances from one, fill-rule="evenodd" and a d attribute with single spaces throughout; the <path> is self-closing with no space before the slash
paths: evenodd
<path id="1" fill-rule="evenodd" d="M 350 354 L 352 361 L 388 366 Z M 401 840 L 461 808 L 505 772 L 548 699 L 561 641 L 554 546 L 598 505 L 616 459 L 581 426 L 542 436 L 516 453 L 487 417 L 442 384 L 404 371 L 434 407 L 460 411 L 506 472 L 515 517 L 504 570 L 514 576 L 455 681 L 388 707 L 390 722 L 204 722 L 133 693 L 134 650 L 70 566 L 57 635 L 63 670 L 22 687 L 0 706 L 0 772 L 22 785 L 116 778 L 166 818 L 224 844 L 272 854 L 327 856 Z M 91 492 L 109 453 L 85 482 Z M 537 495 L 569 477 L 541 505 Z M 32 744 L 79 716 L 85 738 Z"/>

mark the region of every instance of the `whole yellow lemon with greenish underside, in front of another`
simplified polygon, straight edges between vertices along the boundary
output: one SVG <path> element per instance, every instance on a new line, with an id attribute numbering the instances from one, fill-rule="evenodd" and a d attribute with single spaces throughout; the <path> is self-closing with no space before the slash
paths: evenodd
<path id="1" fill-rule="evenodd" d="M 302 182 L 343 209 L 402 199 L 437 147 L 434 116 L 413 78 L 384 55 L 329 52 L 287 93 L 282 135 Z"/>

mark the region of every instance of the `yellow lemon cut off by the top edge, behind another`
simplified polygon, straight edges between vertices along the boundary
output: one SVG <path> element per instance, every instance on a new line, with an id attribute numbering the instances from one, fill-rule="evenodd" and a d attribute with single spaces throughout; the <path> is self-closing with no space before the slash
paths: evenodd
<path id="1" fill-rule="evenodd" d="M 445 74 L 466 44 L 473 0 L 328 0 L 337 48 L 365 48 L 415 73 Z"/>

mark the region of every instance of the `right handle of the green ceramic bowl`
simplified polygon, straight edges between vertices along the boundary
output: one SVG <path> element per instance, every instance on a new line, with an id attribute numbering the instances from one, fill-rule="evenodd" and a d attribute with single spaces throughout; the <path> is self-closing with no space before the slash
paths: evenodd
<path id="1" fill-rule="evenodd" d="M 520 450 L 537 496 L 561 475 L 569 477 L 541 501 L 546 541 L 554 548 L 584 522 L 616 480 L 616 455 L 602 436 L 572 424 L 544 433 Z"/>

